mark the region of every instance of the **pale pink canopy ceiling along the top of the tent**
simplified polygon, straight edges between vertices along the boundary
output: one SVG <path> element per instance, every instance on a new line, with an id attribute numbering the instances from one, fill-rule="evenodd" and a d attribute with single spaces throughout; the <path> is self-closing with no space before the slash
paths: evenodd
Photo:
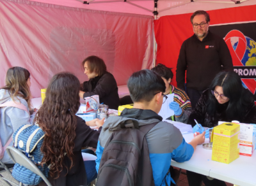
<path id="1" fill-rule="evenodd" d="M 153 15 L 154 0 L 31 0 L 40 3 L 56 4 L 74 8 L 85 8 L 90 10 L 103 10 L 122 13 L 135 13 L 140 15 Z M 88 3 L 88 4 L 86 4 Z M 248 6 L 256 4 L 256 0 L 159 0 L 158 18 L 164 15 L 175 15 L 180 13 L 191 13 L 196 10 L 217 10 L 237 6 Z"/>

